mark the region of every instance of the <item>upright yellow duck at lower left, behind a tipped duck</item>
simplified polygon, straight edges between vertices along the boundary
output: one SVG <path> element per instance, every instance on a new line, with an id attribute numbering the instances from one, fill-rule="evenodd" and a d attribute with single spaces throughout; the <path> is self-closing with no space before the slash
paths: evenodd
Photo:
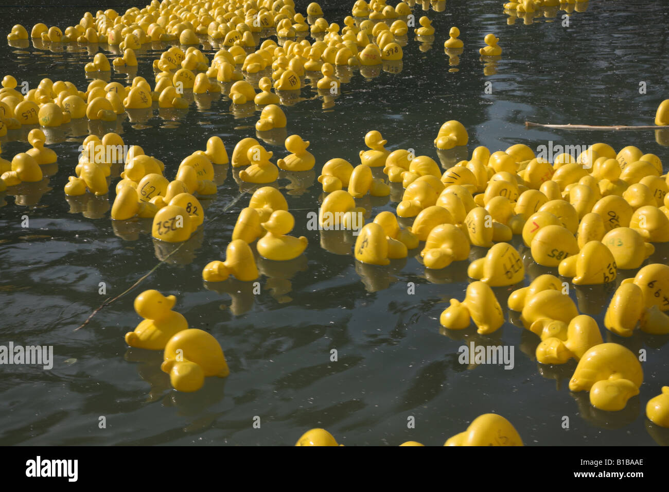
<path id="1" fill-rule="evenodd" d="M 159 291 L 144 291 L 134 299 L 134 310 L 144 320 L 134 331 L 128 331 L 125 341 L 130 347 L 163 350 L 171 337 L 188 329 L 188 322 L 181 313 L 172 311 L 177 298 L 165 297 Z"/>

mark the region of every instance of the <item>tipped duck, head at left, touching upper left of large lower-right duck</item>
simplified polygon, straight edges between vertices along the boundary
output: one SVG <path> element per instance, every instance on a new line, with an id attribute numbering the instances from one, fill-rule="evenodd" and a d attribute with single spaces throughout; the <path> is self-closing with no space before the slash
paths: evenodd
<path id="1" fill-rule="evenodd" d="M 563 364 L 569 359 L 579 360 L 583 354 L 603 343 L 597 321 L 587 315 L 579 315 L 569 321 L 565 339 L 543 338 L 537 346 L 537 361 L 542 364 Z"/>

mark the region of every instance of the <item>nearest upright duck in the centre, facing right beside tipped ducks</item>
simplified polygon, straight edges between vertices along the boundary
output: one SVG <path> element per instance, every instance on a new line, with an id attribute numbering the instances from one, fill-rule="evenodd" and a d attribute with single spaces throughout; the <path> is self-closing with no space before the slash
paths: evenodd
<path id="1" fill-rule="evenodd" d="M 295 219 L 286 210 L 272 212 L 269 220 L 262 223 L 267 234 L 258 240 L 258 252 L 268 260 L 286 261 L 297 258 L 304 252 L 307 239 L 287 236 L 295 226 Z"/>

